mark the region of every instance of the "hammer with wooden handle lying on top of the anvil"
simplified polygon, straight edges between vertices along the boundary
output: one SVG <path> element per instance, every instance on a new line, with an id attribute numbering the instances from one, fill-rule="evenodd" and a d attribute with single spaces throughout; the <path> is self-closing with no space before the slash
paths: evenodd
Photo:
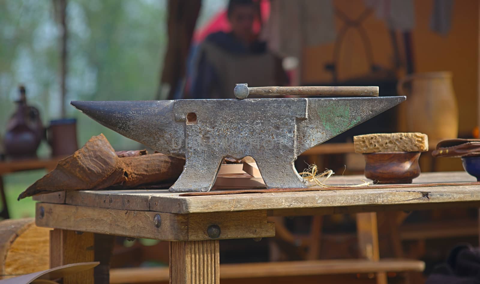
<path id="1" fill-rule="evenodd" d="M 378 97 L 378 86 L 301 86 L 249 87 L 237 84 L 233 89 L 237 99 L 253 96 L 324 96 L 324 97 Z"/>

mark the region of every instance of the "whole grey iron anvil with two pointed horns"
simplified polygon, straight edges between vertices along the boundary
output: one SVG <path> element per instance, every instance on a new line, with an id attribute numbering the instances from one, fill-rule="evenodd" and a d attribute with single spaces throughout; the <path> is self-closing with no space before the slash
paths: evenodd
<path id="1" fill-rule="evenodd" d="M 405 97 L 72 101 L 108 128 L 160 153 L 185 157 L 172 192 L 209 191 L 225 157 L 252 156 L 268 188 L 305 187 L 302 152 Z"/>

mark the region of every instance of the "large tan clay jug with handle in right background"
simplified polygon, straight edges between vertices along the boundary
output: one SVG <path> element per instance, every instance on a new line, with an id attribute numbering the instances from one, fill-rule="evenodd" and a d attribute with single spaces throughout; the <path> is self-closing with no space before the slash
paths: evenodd
<path id="1" fill-rule="evenodd" d="M 407 83 L 410 91 L 405 91 Z M 397 92 L 407 96 L 408 132 L 427 134 L 430 145 L 458 136 L 458 106 L 451 72 L 407 75 L 398 81 Z"/>

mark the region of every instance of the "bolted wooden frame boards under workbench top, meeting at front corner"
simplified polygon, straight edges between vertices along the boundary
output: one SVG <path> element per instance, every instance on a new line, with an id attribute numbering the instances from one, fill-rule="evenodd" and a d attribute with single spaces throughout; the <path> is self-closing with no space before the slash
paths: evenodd
<path id="1" fill-rule="evenodd" d="M 159 228 L 155 225 L 156 215 L 160 216 Z M 266 211 L 172 214 L 37 203 L 36 224 L 40 227 L 168 241 L 211 240 L 207 228 L 213 224 L 221 229 L 218 239 L 275 235 L 275 225 L 267 222 Z"/>

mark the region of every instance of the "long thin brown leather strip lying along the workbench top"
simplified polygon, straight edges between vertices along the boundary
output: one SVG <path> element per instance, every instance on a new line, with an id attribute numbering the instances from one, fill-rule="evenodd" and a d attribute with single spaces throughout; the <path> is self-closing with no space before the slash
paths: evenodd
<path id="1" fill-rule="evenodd" d="M 179 196 L 205 196 L 205 195 L 226 195 L 241 193 L 279 193 L 279 192 L 299 192 L 299 191 L 325 191 L 325 190 L 356 190 L 356 189 L 381 189 L 381 188 L 415 188 L 415 187 L 433 187 L 433 186 L 452 186 L 452 185 L 480 185 L 480 182 L 467 183 L 430 183 L 430 184 L 405 184 L 405 185 L 365 185 L 365 186 L 332 186 L 332 187 L 309 187 L 309 188 L 264 188 L 264 189 L 240 189 L 229 191 L 209 191 L 209 192 L 188 192 Z"/>

